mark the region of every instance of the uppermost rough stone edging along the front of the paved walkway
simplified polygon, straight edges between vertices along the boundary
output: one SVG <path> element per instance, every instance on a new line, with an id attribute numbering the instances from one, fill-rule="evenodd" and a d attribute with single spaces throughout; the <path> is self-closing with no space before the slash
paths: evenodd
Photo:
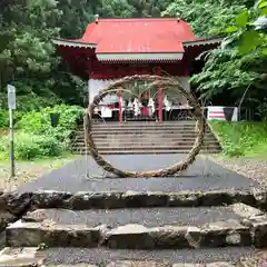
<path id="1" fill-rule="evenodd" d="M 267 209 L 267 192 L 258 189 L 180 191 L 180 192 L 138 192 L 138 191 L 67 191 L 37 192 L 0 192 L 0 211 L 16 217 L 29 209 L 66 208 L 66 209 L 111 209 L 127 207 L 200 207 L 225 206 L 244 202 L 249 206 Z"/>

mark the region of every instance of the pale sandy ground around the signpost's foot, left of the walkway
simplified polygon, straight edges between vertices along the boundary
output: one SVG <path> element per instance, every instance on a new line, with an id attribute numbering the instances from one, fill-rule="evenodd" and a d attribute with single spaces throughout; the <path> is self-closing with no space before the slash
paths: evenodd
<path id="1" fill-rule="evenodd" d="M 0 188 L 14 190 L 24 182 L 38 179 L 42 175 L 62 167 L 76 159 L 77 156 L 63 155 L 58 158 L 42 158 L 34 161 L 16 161 L 16 177 L 10 178 L 10 164 L 8 160 L 0 160 Z"/>

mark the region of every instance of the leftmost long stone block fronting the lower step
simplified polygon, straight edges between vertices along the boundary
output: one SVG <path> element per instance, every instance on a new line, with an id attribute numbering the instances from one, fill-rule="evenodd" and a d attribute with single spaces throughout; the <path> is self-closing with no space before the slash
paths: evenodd
<path id="1" fill-rule="evenodd" d="M 101 227 L 56 225 L 53 221 L 14 222 L 6 230 L 10 247 L 96 247 L 101 240 Z"/>

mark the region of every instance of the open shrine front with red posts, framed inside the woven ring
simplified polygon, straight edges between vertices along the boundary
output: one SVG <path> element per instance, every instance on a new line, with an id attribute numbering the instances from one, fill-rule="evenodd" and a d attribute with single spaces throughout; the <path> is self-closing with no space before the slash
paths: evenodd
<path id="1" fill-rule="evenodd" d="M 146 82 L 138 81 L 118 91 L 101 100 L 95 109 L 95 121 L 164 123 L 164 121 L 192 119 L 187 99 L 174 89 L 162 91 L 160 82 L 156 81 L 155 87 L 148 89 Z M 92 97 L 90 96 L 91 99 Z"/>

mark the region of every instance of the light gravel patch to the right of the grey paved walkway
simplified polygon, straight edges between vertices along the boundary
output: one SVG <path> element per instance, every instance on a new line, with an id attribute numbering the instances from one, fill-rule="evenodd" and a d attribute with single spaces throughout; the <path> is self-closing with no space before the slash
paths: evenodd
<path id="1" fill-rule="evenodd" d="M 258 181 L 261 186 L 267 187 L 267 160 L 246 158 L 222 159 L 218 157 L 209 157 L 209 159 L 229 170 Z"/>

